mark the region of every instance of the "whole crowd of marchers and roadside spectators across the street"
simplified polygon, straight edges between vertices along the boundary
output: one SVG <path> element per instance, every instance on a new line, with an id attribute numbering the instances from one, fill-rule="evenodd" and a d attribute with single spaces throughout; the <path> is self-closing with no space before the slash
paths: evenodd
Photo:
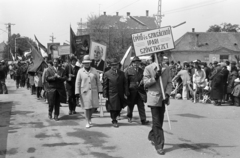
<path id="1" fill-rule="evenodd" d="M 151 55 L 143 62 L 135 56 L 124 70 L 119 59 L 112 58 L 103 72 L 85 55 L 78 60 L 70 56 L 43 62 L 32 71 L 32 56 L 8 67 L 1 62 L 1 90 L 7 93 L 5 79 L 9 72 L 16 81 L 16 88 L 26 87 L 37 99 L 48 103 L 48 118 L 59 120 L 61 103 L 67 103 L 69 115 L 77 114 L 76 107 L 85 113 L 86 128 L 93 126 L 92 114 L 100 107 L 100 98 L 106 100 L 113 127 L 119 127 L 121 110 L 127 107 L 126 118 L 132 123 L 134 106 L 137 105 L 142 125 L 148 125 L 145 105 L 151 109 L 152 130 L 148 139 L 158 154 L 164 154 L 163 120 L 169 98 L 192 100 L 194 103 L 240 105 L 240 69 L 232 61 L 204 63 L 164 61 L 164 52 Z M 157 57 L 158 62 L 155 61 Z M 2 75 L 3 74 L 3 75 Z M 160 77 L 162 83 L 160 83 Z M 4 86 L 5 85 L 5 86 Z M 163 90 L 161 89 L 163 87 Z M 164 93 L 164 94 L 163 94 Z M 164 97 L 163 97 L 164 96 Z"/>

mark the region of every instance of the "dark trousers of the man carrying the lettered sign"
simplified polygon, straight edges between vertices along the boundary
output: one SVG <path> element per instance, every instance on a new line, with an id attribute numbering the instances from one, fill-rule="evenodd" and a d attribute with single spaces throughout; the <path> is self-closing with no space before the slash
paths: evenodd
<path id="1" fill-rule="evenodd" d="M 163 131 L 163 120 L 165 105 L 162 107 L 151 107 L 152 112 L 152 130 L 149 132 L 148 139 L 153 141 L 156 150 L 163 149 L 164 147 L 164 131 Z"/>

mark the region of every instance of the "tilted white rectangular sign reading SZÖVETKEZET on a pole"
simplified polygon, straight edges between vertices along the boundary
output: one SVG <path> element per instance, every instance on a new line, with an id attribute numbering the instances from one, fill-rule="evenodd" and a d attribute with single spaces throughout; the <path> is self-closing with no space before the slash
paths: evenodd
<path id="1" fill-rule="evenodd" d="M 174 49 L 171 26 L 132 34 L 137 56 Z"/>

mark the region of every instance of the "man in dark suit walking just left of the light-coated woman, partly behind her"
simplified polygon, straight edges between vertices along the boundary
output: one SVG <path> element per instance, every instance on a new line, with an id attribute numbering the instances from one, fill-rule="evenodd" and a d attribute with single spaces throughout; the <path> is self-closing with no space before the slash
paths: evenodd
<path id="1" fill-rule="evenodd" d="M 69 115 L 76 114 L 76 95 L 75 95 L 75 81 L 76 76 L 79 70 L 79 67 L 76 66 L 77 59 L 72 56 L 70 58 L 70 64 L 65 67 L 65 73 L 67 77 L 66 81 L 66 90 L 68 93 L 68 106 L 69 106 Z"/>

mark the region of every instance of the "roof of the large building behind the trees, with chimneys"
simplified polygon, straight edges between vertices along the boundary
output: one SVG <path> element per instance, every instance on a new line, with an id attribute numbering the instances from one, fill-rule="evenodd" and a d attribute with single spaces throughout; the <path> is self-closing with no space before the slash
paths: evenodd
<path id="1" fill-rule="evenodd" d="M 129 29 L 155 29 L 157 28 L 156 19 L 150 16 L 118 16 L 118 15 L 101 15 L 100 19 L 106 20 L 108 26 L 114 27 L 116 23 L 122 22 L 127 25 Z M 143 24 L 146 26 L 144 26 Z"/>

